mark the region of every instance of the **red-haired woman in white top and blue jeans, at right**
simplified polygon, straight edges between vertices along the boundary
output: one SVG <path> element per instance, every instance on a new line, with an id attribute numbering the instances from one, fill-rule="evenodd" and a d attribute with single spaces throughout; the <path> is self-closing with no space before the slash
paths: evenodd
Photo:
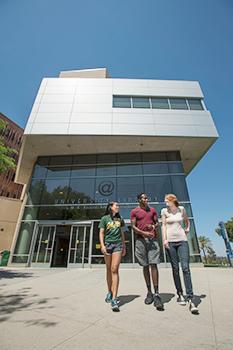
<path id="1" fill-rule="evenodd" d="M 197 313 L 198 309 L 193 302 L 193 287 L 189 269 L 189 246 L 186 237 L 190 230 L 190 223 L 185 208 L 180 206 L 174 194 L 165 196 L 165 204 L 167 208 L 163 208 L 161 211 L 163 244 L 167 249 L 172 265 L 173 279 L 178 294 L 177 301 L 180 305 L 186 305 L 179 274 L 180 261 L 189 309 L 192 313 Z M 183 229 L 183 221 L 186 226 L 185 230 Z"/>

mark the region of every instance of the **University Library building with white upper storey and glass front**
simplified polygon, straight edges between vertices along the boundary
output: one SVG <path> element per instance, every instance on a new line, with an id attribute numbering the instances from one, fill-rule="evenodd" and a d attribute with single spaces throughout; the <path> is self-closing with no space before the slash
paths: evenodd
<path id="1" fill-rule="evenodd" d="M 123 263 L 136 266 L 130 211 L 139 192 L 160 221 L 164 195 L 177 195 L 191 222 L 191 262 L 200 262 L 185 178 L 218 138 L 203 98 L 195 81 L 111 79 L 106 69 L 44 78 L 17 170 L 27 191 L 12 264 L 102 264 L 98 223 L 116 200 L 126 222 Z"/>

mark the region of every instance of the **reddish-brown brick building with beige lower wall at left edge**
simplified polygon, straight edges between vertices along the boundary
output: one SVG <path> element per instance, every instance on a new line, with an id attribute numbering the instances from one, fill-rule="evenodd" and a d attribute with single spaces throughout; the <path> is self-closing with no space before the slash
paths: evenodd
<path id="1" fill-rule="evenodd" d="M 0 119 L 8 123 L 6 130 L 0 132 L 3 144 L 20 152 L 23 129 L 2 113 Z M 17 164 L 19 155 L 12 152 L 11 157 Z M 22 205 L 24 186 L 15 182 L 15 173 L 15 170 L 7 169 L 0 174 L 0 251 L 11 250 Z"/>

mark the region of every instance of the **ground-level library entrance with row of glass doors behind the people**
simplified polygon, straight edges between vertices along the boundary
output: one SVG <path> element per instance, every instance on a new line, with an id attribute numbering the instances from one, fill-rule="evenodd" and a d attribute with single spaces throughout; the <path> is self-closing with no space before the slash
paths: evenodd
<path id="1" fill-rule="evenodd" d="M 105 264 L 99 242 L 99 220 L 82 222 L 38 223 L 34 229 L 28 266 L 52 268 L 84 268 Z M 134 256 L 135 234 L 130 220 L 124 226 L 126 255 L 122 264 L 137 266 Z M 158 232 L 160 247 L 161 232 Z M 160 262 L 164 263 L 165 252 L 161 249 Z"/>

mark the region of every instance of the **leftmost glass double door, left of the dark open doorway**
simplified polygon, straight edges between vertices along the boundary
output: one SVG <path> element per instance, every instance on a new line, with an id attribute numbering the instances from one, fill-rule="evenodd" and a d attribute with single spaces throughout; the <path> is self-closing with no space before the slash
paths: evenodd
<path id="1" fill-rule="evenodd" d="M 50 267 L 56 226 L 38 225 L 31 266 Z"/>

